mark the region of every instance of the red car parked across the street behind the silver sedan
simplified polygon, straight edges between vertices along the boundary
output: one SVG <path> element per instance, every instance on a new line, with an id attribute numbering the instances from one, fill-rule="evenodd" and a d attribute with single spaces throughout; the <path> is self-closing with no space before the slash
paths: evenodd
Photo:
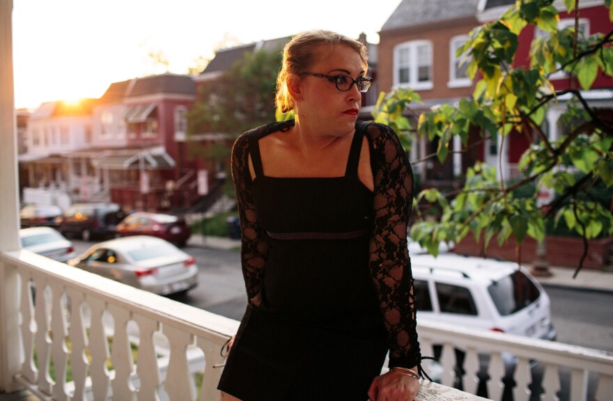
<path id="1" fill-rule="evenodd" d="M 183 218 L 171 214 L 134 212 L 118 223 L 116 234 L 120 237 L 152 235 L 185 246 L 192 232 Z"/>

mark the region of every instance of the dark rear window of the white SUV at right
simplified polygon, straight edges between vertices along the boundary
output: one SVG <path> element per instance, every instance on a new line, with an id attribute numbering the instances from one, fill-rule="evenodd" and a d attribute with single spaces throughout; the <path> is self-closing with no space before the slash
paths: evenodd
<path id="1" fill-rule="evenodd" d="M 502 316 L 511 315 L 522 310 L 538 299 L 541 292 L 522 272 L 515 272 L 493 281 L 488 292 Z"/>

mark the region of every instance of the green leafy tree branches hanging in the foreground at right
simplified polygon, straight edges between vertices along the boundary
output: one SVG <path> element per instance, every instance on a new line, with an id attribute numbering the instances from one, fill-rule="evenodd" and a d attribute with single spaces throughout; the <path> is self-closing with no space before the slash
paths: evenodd
<path id="1" fill-rule="evenodd" d="M 556 92 L 548 79 L 564 70 L 588 90 L 597 74 L 612 77 L 613 31 L 583 36 L 575 27 L 559 29 L 559 15 L 552 3 L 517 1 L 497 21 L 472 30 L 470 40 L 458 49 L 458 56 L 466 54 L 470 77 L 480 77 L 472 98 L 421 113 L 416 129 L 403 116 L 410 102 L 420 101 L 411 90 L 383 93 L 373 110 L 375 120 L 392 125 L 401 134 L 407 150 L 415 136 L 437 139 L 437 152 L 426 159 L 440 162 L 449 157 L 453 136 L 460 137 L 464 148 L 472 146 L 468 139 L 473 131 L 479 132 L 481 140 L 496 134 L 503 144 L 511 132 L 537 138 L 522 155 L 519 168 L 524 178 L 518 182 L 502 182 L 495 168 L 477 163 L 466 172 L 461 190 L 443 194 L 426 189 L 417 195 L 416 205 L 440 210 L 440 219 L 431 220 L 423 219 L 418 209 L 418 221 L 410 233 L 434 255 L 440 242 L 458 242 L 469 233 L 478 241 L 483 236 L 486 246 L 493 238 L 502 244 L 513 235 L 520 255 L 527 236 L 543 240 L 545 219 L 552 218 L 584 238 L 580 269 L 587 255 L 587 239 L 613 233 L 611 206 L 589 195 L 597 184 L 612 189 L 613 118 L 588 104 L 578 89 Z M 577 3 L 564 0 L 568 13 L 575 13 L 575 21 Z M 612 0 L 605 0 L 604 5 L 613 21 Z M 513 67 L 518 36 L 527 26 L 538 26 L 547 35 L 532 42 L 529 65 Z M 551 141 L 542 129 L 545 111 L 566 93 L 573 99 L 560 118 L 570 131 Z M 536 201 L 541 187 L 556 194 L 545 207 Z"/>

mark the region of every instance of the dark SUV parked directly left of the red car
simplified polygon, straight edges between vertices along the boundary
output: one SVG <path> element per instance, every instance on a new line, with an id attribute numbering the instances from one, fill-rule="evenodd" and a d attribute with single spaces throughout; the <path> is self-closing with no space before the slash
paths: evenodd
<path id="1" fill-rule="evenodd" d="M 115 226 L 125 217 L 116 203 L 75 203 L 57 219 L 60 233 L 66 237 L 114 237 Z"/>

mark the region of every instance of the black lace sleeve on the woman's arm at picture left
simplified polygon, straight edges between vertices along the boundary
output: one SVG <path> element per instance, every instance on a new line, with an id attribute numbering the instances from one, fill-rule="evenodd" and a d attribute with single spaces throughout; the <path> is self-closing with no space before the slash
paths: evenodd
<path id="1" fill-rule="evenodd" d="M 241 266 L 245 278 L 249 304 L 254 306 L 254 297 L 262 290 L 264 266 L 268 256 L 265 230 L 258 221 L 258 214 L 251 193 L 249 173 L 248 136 L 242 134 L 232 148 L 232 180 L 236 191 L 238 216 L 241 228 Z"/>

